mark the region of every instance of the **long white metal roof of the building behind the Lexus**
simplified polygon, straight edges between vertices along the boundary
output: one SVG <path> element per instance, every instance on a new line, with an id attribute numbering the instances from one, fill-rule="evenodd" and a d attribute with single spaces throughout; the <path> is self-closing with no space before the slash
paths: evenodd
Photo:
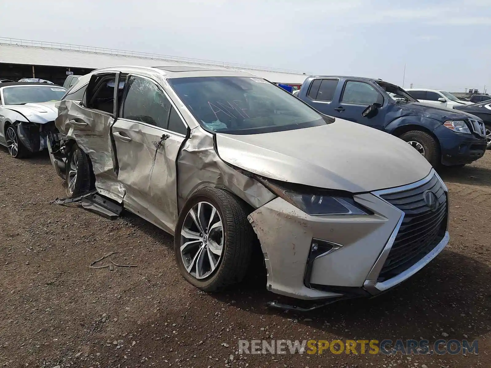
<path id="1" fill-rule="evenodd" d="M 157 61 L 157 62 L 156 62 Z M 153 53 L 0 37 L 0 63 L 101 69 L 114 65 L 218 67 L 244 70 L 272 82 L 301 84 L 311 73 Z"/>

